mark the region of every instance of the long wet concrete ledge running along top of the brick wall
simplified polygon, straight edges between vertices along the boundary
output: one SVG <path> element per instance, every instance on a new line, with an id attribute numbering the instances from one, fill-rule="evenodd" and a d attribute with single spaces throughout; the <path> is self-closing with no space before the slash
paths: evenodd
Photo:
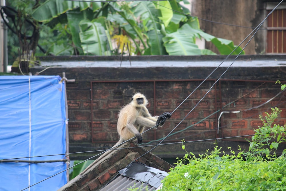
<path id="1" fill-rule="evenodd" d="M 146 67 L 217 67 L 227 55 L 201 56 L 43 56 L 42 67 L 83 68 L 146 68 Z M 237 56 L 229 58 L 220 67 L 229 67 Z M 286 66 L 285 55 L 241 55 L 231 67 Z"/>

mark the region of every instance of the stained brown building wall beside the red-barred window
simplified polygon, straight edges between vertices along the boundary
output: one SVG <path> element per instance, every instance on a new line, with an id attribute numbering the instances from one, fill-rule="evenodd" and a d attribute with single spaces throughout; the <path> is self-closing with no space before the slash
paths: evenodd
<path id="1" fill-rule="evenodd" d="M 232 40 L 235 45 L 239 45 L 266 17 L 265 3 L 265 1 L 260 0 L 193 0 L 192 15 L 214 22 L 243 26 L 237 27 L 200 20 L 200 28 L 206 33 L 218 38 Z M 265 22 L 261 28 L 266 28 L 266 26 Z M 246 42 L 241 46 L 244 47 Z M 218 53 L 216 47 L 210 42 L 206 43 L 206 48 Z M 245 48 L 245 53 L 264 54 L 265 48 L 266 30 L 259 30 L 255 38 Z"/>

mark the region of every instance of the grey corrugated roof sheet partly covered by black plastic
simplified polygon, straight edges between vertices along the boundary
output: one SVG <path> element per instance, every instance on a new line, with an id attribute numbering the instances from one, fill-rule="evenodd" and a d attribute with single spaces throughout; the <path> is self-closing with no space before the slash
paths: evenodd
<path id="1" fill-rule="evenodd" d="M 128 188 L 139 188 L 140 190 L 156 190 L 168 173 L 144 164 L 133 162 L 126 168 L 118 171 L 119 176 L 106 185 L 101 191 L 116 190 L 126 191 Z"/>

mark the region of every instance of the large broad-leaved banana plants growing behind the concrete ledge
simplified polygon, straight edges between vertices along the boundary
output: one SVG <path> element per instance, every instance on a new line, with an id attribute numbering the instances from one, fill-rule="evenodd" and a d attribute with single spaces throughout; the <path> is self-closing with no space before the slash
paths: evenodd
<path id="1" fill-rule="evenodd" d="M 24 4 L 25 7 L 32 7 L 31 5 L 36 2 L 35 0 L 12 1 L 19 5 Z M 185 0 L 37 2 L 39 5 L 25 13 L 31 19 L 43 23 L 37 27 L 41 36 L 39 45 L 47 50 L 45 55 L 116 55 L 118 45 L 111 43 L 111 39 L 121 34 L 127 35 L 130 41 L 132 40 L 129 47 L 136 49 L 133 54 L 138 55 L 215 54 L 210 50 L 199 49 L 195 44 L 197 38 L 212 42 L 220 54 L 229 54 L 237 48 L 232 41 L 216 38 L 201 31 L 198 19 L 190 16 L 190 11 L 182 5 L 182 3 L 188 4 Z M 13 6 L 13 3 L 11 5 Z M 91 29 L 86 28 L 83 31 L 81 29 L 83 22 L 93 23 L 88 25 Z M 49 26 L 52 32 L 42 26 Z M 238 47 L 233 54 L 238 54 L 241 50 Z M 127 54 L 126 51 L 123 53 Z"/>

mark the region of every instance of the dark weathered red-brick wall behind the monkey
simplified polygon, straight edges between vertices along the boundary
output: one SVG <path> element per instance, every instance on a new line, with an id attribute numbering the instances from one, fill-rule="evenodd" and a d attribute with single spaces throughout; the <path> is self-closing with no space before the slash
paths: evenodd
<path id="1" fill-rule="evenodd" d="M 232 57 L 234 58 L 234 57 Z M 54 60 L 57 59 L 57 60 Z M 165 111 L 173 111 L 188 95 L 210 74 L 215 68 L 208 67 L 86 67 L 84 63 L 105 60 L 106 66 L 110 62 L 120 63 L 120 58 L 110 57 L 48 57 L 42 61 L 50 60 L 45 66 L 55 66 L 41 73 L 41 75 L 61 75 L 66 72 L 68 79 L 76 79 L 75 83 L 67 84 L 67 99 L 69 109 L 69 141 L 70 152 L 99 150 L 111 147 L 118 141 L 116 131 L 117 114 L 120 108 L 130 102 L 131 96 L 140 91 L 146 94 L 149 100 L 148 109 L 153 115 L 160 115 Z M 180 140 L 215 139 L 253 134 L 253 128 L 262 125 L 259 115 L 270 111 L 271 107 L 282 109 L 278 122 L 285 124 L 286 108 L 285 96 L 281 93 L 275 99 L 259 108 L 257 107 L 281 92 L 280 86 L 275 84 L 277 79 L 285 78 L 286 68 L 283 67 L 283 56 L 241 56 L 237 62 L 250 65 L 256 60 L 263 63 L 277 60 L 275 66 L 267 67 L 234 67 L 223 75 L 223 78 L 213 86 L 201 103 L 186 117 L 198 101 L 206 94 L 220 75 L 227 69 L 218 68 L 202 85 L 173 113 L 162 128 L 150 130 L 143 135 L 144 143 L 161 139 L 178 125 L 174 135 L 167 142 L 180 142 Z M 79 67 L 60 65 L 61 60 L 75 64 Z M 117 60 L 117 61 L 116 61 Z M 128 58 L 124 58 L 128 60 Z M 223 60 L 223 57 L 214 56 L 188 56 L 188 57 L 136 57 L 131 63 L 154 62 L 154 60 L 182 63 L 211 62 Z M 214 61 L 215 60 L 215 61 Z M 47 64 L 50 63 L 50 64 Z M 31 69 L 32 73 L 43 70 L 43 67 Z M 92 100 L 92 103 L 91 103 Z M 91 107 L 92 105 L 92 107 Z M 249 111 L 246 109 L 253 108 Z M 219 111 L 220 110 L 220 111 Z M 223 113 L 220 120 L 219 133 L 217 133 L 217 120 L 221 111 L 241 111 L 240 113 Z M 227 139 L 220 144 L 243 145 L 247 148 L 245 137 Z M 187 150 L 194 153 L 204 153 L 212 149 L 214 141 L 189 143 Z M 153 143 L 152 143 L 153 144 Z M 175 157 L 184 154 L 180 144 L 160 146 L 154 151 L 160 157 Z M 93 154 L 86 154 L 87 156 Z M 84 154 L 71 156 L 72 159 L 85 158 Z"/>

